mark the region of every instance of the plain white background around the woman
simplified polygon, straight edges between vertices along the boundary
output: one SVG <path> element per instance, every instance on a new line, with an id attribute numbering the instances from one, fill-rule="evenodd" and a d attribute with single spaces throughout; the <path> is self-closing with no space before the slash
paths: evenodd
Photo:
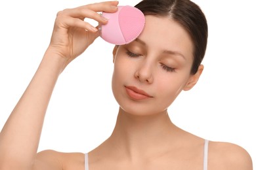
<path id="1" fill-rule="evenodd" d="M 95 2 L 0 1 L 0 129 L 41 61 L 56 12 Z M 256 163 L 253 0 L 194 2 L 209 24 L 205 70 L 198 84 L 182 92 L 169 108 L 171 119 L 205 139 L 244 147 Z M 112 48 L 97 39 L 62 73 L 47 110 L 39 151 L 89 152 L 110 136 L 118 110 L 111 90 Z"/>

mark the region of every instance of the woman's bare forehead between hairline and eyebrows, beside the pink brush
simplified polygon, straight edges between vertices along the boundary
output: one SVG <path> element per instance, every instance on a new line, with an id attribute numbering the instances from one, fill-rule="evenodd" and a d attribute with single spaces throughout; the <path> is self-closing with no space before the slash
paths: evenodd
<path id="1" fill-rule="evenodd" d="M 193 44 L 190 35 L 171 18 L 146 15 L 146 24 L 139 39 L 146 42 L 150 50 L 176 51 L 185 58 L 192 59 Z"/>

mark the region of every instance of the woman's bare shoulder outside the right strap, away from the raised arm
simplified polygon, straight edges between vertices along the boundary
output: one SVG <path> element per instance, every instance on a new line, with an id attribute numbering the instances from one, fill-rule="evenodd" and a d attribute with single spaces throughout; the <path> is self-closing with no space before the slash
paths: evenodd
<path id="1" fill-rule="evenodd" d="M 232 143 L 210 142 L 208 167 L 210 169 L 243 169 L 252 170 L 252 160 L 249 153 Z"/>

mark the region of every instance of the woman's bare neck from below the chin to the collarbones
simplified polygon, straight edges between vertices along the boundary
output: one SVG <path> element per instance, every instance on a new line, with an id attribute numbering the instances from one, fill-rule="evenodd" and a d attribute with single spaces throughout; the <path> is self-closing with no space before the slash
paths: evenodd
<path id="1" fill-rule="evenodd" d="M 165 152 L 180 129 L 170 120 L 167 110 L 137 116 L 119 109 L 116 127 L 106 144 L 130 158 Z"/>

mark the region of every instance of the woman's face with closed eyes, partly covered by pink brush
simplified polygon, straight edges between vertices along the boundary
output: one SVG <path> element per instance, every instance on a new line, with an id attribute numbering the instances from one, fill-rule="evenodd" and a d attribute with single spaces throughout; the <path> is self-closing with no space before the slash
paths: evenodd
<path id="1" fill-rule="evenodd" d="M 200 76 L 190 75 L 192 54 L 192 41 L 181 25 L 146 16 L 138 39 L 114 49 L 112 90 L 121 109 L 136 115 L 165 112 Z"/>

